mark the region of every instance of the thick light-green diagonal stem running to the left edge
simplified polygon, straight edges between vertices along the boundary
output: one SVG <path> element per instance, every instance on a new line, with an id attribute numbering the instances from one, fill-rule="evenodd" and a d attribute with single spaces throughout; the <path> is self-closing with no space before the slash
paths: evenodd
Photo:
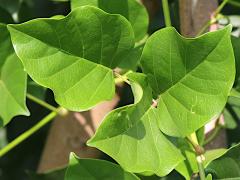
<path id="1" fill-rule="evenodd" d="M 61 108 L 58 108 L 61 110 Z M 11 149 L 19 145 L 21 142 L 23 142 L 25 139 L 27 139 L 29 136 L 31 136 L 33 133 L 35 133 L 37 130 L 39 130 L 41 127 L 43 127 L 45 124 L 47 124 L 49 121 L 51 121 L 54 117 L 57 116 L 57 112 L 53 111 L 50 114 L 48 114 L 46 117 L 44 117 L 41 121 L 39 121 L 36 125 L 34 125 L 32 128 L 18 136 L 16 139 L 14 139 L 12 142 L 10 142 L 8 145 L 6 145 L 4 148 L 0 150 L 0 157 L 2 157 L 4 154 L 9 152 Z"/>

